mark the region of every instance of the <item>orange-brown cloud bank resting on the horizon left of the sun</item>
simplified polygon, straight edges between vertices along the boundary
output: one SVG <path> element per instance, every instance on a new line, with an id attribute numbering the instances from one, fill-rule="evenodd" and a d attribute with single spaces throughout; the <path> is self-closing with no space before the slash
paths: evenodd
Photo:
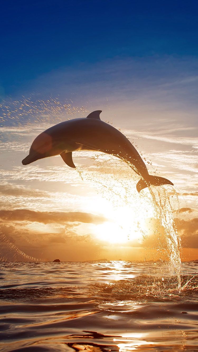
<path id="1" fill-rule="evenodd" d="M 67 226 L 61 234 L 41 234 L 0 225 L 0 261 L 93 260 L 98 251 L 92 235 L 79 235 Z"/>

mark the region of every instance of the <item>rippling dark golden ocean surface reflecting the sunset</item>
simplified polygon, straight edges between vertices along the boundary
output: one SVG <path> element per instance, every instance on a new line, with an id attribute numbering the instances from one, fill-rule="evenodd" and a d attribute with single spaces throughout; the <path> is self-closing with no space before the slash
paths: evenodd
<path id="1" fill-rule="evenodd" d="M 198 351 L 198 264 L 0 263 L 0 351 Z"/>

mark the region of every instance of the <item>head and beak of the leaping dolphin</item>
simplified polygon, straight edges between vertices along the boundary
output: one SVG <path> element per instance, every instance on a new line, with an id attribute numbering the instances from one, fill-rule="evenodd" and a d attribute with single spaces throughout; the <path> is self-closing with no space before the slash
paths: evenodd
<path id="1" fill-rule="evenodd" d="M 53 138 L 51 134 L 46 131 L 42 132 L 33 141 L 30 147 L 29 155 L 22 160 L 22 164 L 27 165 L 38 159 L 59 155 L 64 150 L 61 144 L 61 140 Z"/>

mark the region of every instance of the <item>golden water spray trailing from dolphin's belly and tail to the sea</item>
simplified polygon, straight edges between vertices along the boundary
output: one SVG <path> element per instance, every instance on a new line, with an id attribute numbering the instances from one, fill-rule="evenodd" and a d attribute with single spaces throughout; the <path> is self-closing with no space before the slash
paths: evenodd
<path id="1" fill-rule="evenodd" d="M 135 218 L 136 229 L 134 226 L 130 228 L 130 224 L 124 226 L 122 213 L 120 213 L 120 219 L 116 219 L 118 226 L 122 227 L 123 231 L 129 232 L 129 238 L 130 235 L 133 237 L 136 231 L 141 233 L 142 238 L 149 243 L 148 229 L 143 226 L 144 220 L 151 214 L 157 219 L 154 230 L 157 239 L 155 249 L 161 261 L 165 263 L 164 270 L 168 270 L 167 274 L 177 278 L 177 288 L 180 290 L 181 246 L 174 221 L 179 210 L 177 192 L 172 186 L 151 186 L 138 194 L 135 188 L 137 177 L 127 166 L 125 167 L 126 164 L 122 161 L 111 156 L 104 157 L 101 154 L 92 156 L 91 159 L 94 161 L 94 167 L 84 167 L 83 171 L 81 170 L 81 177 L 83 174 L 84 181 L 91 181 L 98 193 L 102 194 L 114 209 L 123 208 L 126 212 L 130 209 L 131 221 Z M 152 211 L 149 212 L 151 209 Z M 142 245 L 144 246 L 144 241 Z"/>

